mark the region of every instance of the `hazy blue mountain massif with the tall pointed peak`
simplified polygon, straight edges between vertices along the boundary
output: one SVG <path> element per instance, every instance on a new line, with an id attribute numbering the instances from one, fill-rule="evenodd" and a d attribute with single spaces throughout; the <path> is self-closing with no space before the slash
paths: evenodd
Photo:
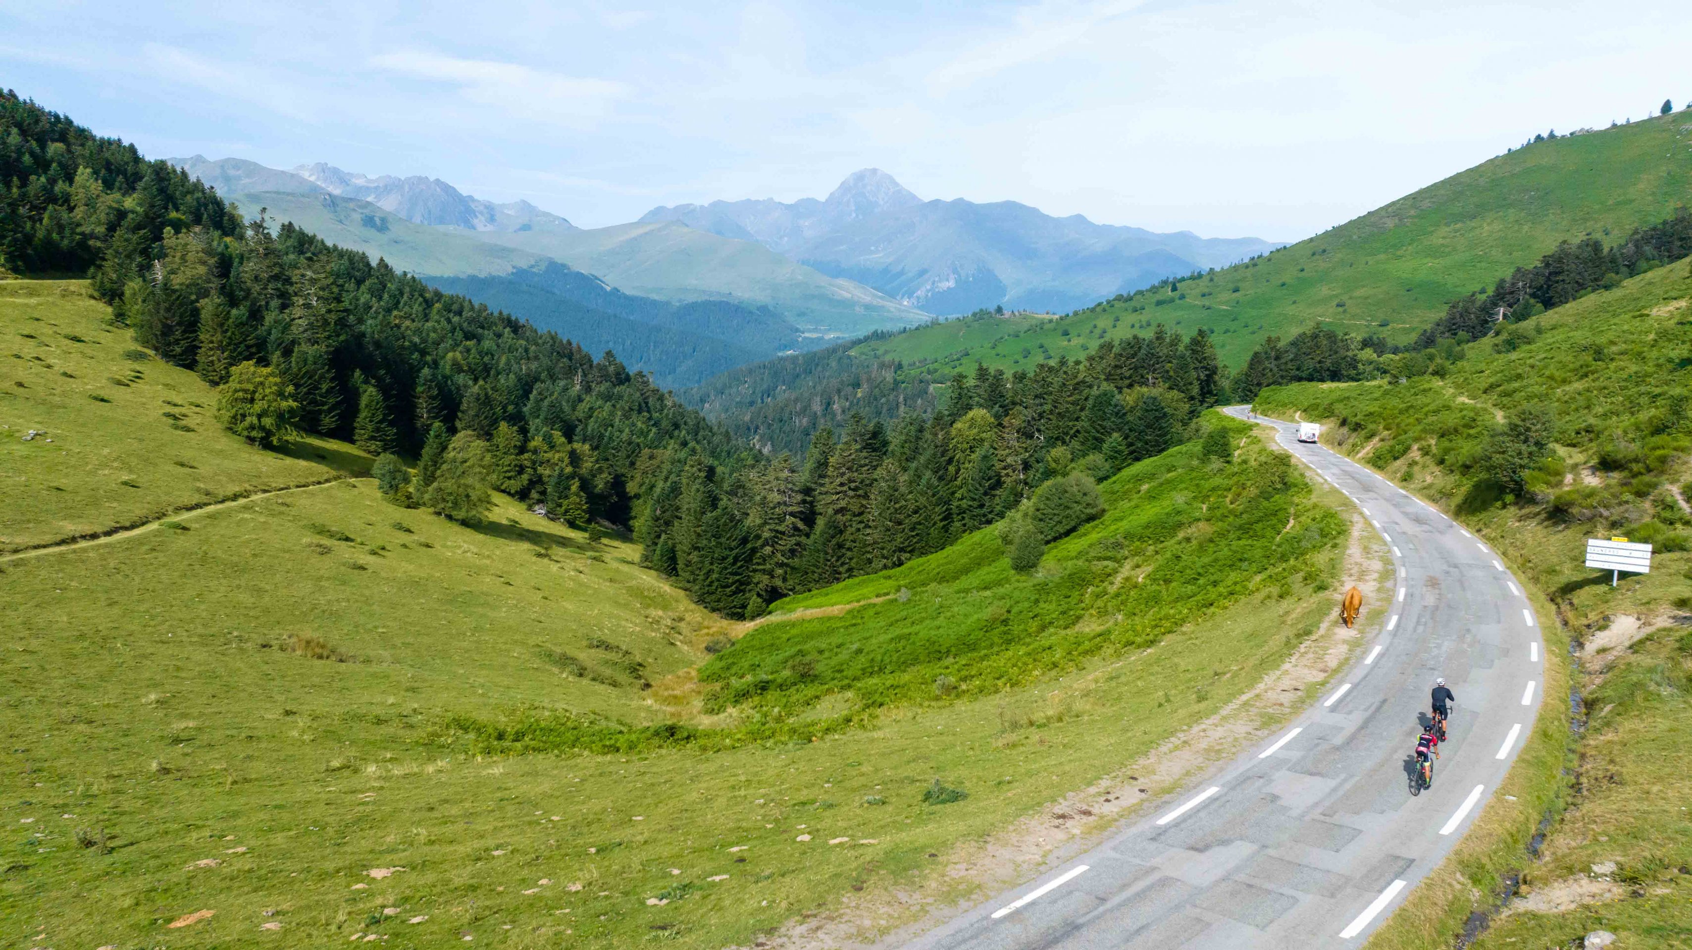
<path id="1" fill-rule="evenodd" d="M 822 201 L 660 206 L 641 221 L 755 240 L 932 314 L 1068 311 L 1279 247 L 1054 218 L 1015 201 L 924 201 L 880 169 L 853 172 Z"/>

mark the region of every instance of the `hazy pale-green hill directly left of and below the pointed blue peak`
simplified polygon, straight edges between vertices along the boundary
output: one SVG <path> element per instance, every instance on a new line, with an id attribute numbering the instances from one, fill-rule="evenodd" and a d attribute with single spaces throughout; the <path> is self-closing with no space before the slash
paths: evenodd
<path id="1" fill-rule="evenodd" d="M 761 243 L 729 240 L 687 225 L 460 233 L 562 260 L 631 294 L 768 306 L 800 330 L 821 336 L 861 336 L 929 319 L 926 313 L 870 287 L 794 264 Z"/>

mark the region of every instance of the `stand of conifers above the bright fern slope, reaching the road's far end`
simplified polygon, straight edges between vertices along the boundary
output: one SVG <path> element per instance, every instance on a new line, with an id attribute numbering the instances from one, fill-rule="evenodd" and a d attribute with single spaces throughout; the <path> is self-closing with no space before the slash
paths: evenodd
<path id="1" fill-rule="evenodd" d="M 653 456 L 640 473 L 646 563 L 700 603 L 755 617 L 775 598 L 898 566 L 1017 510 L 1042 485 L 1096 483 L 1195 433 L 1227 389 L 1210 335 L 1162 326 L 1086 360 L 958 374 L 934 412 L 853 412 L 804 453 L 753 465 Z M 1083 485 L 1047 492 L 1085 509 Z M 1008 536 L 1007 536 L 1008 538 Z M 1007 541 L 1007 549 L 1015 541 Z M 1027 544 L 1024 544 L 1024 556 Z"/>

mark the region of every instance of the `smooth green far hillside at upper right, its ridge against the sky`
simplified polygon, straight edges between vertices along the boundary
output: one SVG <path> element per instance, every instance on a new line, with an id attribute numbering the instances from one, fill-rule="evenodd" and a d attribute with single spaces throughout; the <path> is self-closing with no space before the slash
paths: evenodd
<path id="1" fill-rule="evenodd" d="M 1156 296 L 1142 292 L 1129 304 L 1103 304 L 1032 330 L 986 323 L 959 336 L 954 325 L 941 325 L 865 345 L 863 353 L 1012 369 L 1046 358 L 1041 347 L 1051 358 L 1078 358 L 1100 333 L 1125 336 L 1151 323 L 1183 333 L 1210 328 L 1230 365 L 1242 363 L 1264 336 L 1286 338 L 1316 321 L 1403 343 L 1452 299 L 1491 287 L 1562 240 L 1619 238 L 1689 201 L 1692 130 L 1684 115 L 1667 115 L 1489 159 L 1261 260 L 1183 284 L 1184 299 L 1166 306 L 1152 306 Z M 993 338 L 998 347 L 990 345 Z"/>

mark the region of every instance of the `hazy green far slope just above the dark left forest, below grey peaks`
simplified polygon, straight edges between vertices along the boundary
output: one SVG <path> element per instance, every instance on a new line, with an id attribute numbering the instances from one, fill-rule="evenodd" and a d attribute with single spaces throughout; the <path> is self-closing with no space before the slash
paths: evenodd
<path id="1" fill-rule="evenodd" d="M 276 221 L 293 221 L 330 243 L 362 250 L 371 260 L 386 259 L 396 270 L 411 274 L 499 276 L 545 262 L 541 254 L 416 225 L 357 198 L 264 191 L 232 194 L 230 201 L 249 218 L 269 208 L 267 216 Z"/>

